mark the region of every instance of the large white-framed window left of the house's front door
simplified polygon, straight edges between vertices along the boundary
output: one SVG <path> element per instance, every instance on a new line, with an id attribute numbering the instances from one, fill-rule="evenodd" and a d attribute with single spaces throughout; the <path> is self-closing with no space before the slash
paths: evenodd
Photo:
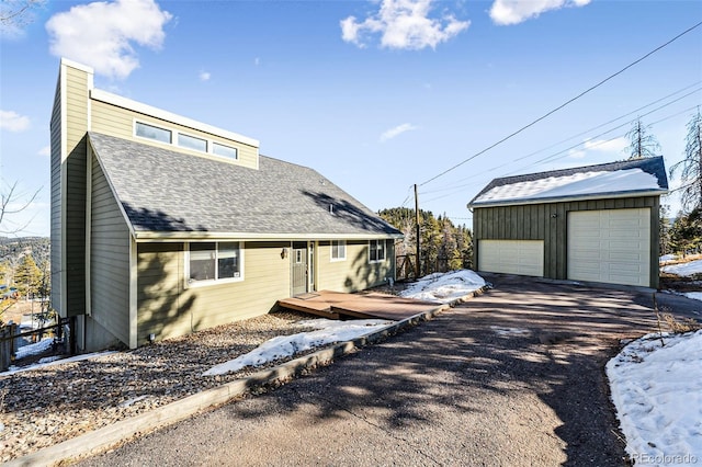
<path id="1" fill-rule="evenodd" d="M 190 243 L 188 283 L 241 280 L 239 242 Z"/>

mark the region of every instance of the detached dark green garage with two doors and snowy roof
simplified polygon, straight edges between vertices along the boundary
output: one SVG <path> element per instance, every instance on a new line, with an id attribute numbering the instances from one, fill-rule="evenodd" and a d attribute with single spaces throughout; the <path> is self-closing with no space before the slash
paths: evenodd
<path id="1" fill-rule="evenodd" d="M 663 157 L 492 180 L 473 209 L 477 271 L 658 287 Z"/>

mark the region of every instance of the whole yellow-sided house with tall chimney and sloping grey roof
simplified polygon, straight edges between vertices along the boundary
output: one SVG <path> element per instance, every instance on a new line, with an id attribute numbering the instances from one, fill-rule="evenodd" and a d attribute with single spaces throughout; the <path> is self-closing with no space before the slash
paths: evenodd
<path id="1" fill-rule="evenodd" d="M 394 278 L 401 234 L 315 170 L 92 78 L 61 60 L 50 124 L 52 305 L 81 351 Z"/>

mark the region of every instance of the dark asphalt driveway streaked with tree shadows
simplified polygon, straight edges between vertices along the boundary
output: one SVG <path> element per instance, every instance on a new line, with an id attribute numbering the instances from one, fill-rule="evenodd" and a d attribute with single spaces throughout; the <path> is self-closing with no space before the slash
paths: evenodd
<path id="1" fill-rule="evenodd" d="M 486 278 L 432 321 L 80 465 L 625 465 L 603 366 L 656 329 L 653 295 Z"/>

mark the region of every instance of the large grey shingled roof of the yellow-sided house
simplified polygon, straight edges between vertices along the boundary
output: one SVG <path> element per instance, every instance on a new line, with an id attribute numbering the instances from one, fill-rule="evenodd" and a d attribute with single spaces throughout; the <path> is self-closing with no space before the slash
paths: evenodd
<path id="1" fill-rule="evenodd" d="M 401 237 L 317 171 L 261 156 L 259 169 L 89 133 L 134 235 Z"/>

